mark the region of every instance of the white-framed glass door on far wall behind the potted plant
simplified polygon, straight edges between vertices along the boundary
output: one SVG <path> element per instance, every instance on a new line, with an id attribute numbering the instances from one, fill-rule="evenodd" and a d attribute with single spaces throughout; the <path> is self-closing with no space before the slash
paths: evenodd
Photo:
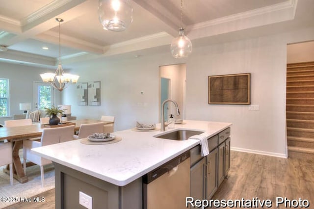
<path id="1" fill-rule="evenodd" d="M 54 89 L 49 83 L 34 82 L 34 109 L 51 107 L 54 103 Z"/>

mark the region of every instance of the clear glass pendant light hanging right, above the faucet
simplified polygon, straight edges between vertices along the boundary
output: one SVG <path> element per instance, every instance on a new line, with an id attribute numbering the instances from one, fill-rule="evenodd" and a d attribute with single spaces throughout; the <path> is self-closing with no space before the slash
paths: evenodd
<path id="1" fill-rule="evenodd" d="M 183 0 L 181 0 L 181 27 L 179 29 L 179 36 L 172 40 L 170 50 L 172 56 L 175 58 L 188 57 L 192 52 L 192 43 L 190 39 L 184 35 Z"/>

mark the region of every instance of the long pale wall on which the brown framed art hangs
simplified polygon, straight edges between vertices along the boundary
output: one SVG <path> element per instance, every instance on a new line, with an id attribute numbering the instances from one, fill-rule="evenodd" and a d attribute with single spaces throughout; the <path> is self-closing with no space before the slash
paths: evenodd
<path id="1" fill-rule="evenodd" d="M 72 105 L 78 118 L 115 115 L 115 130 L 130 129 L 136 120 L 158 122 L 158 67 L 186 63 L 186 119 L 233 123 L 232 147 L 266 155 L 287 156 L 286 64 L 287 44 L 313 40 L 314 28 L 278 35 L 195 47 L 187 59 L 174 59 L 170 52 L 119 61 L 93 61 L 79 65 L 80 82 L 101 80 L 101 106 Z M 208 104 L 208 76 L 251 73 L 251 104 Z M 141 95 L 140 91 L 145 94 Z M 75 89 L 65 91 L 71 104 Z M 146 103 L 146 106 L 138 106 Z"/>

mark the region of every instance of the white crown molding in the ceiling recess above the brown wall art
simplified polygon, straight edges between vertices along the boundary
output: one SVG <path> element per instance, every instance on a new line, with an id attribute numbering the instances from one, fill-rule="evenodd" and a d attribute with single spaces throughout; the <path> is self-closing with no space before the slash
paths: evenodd
<path id="1" fill-rule="evenodd" d="M 245 12 L 237 13 L 234 15 L 229 15 L 226 17 L 213 19 L 213 20 L 206 21 L 203 23 L 194 24 L 191 26 L 187 26 L 187 30 L 191 31 L 191 30 L 196 30 L 196 29 L 202 29 L 205 27 L 230 23 L 230 22 L 234 22 L 234 21 L 238 21 L 238 20 L 242 20 L 242 19 L 252 18 L 255 16 L 265 15 L 268 13 L 278 12 L 280 10 L 291 9 L 291 8 L 293 8 L 293 17 L 294 17 L 296 6 L 297 6 L 297 1 L 298 0 L 288 0 L 285 2 L 265 6 L 262 8 L 253 9 L 250 11 L 245 11 Z"/>

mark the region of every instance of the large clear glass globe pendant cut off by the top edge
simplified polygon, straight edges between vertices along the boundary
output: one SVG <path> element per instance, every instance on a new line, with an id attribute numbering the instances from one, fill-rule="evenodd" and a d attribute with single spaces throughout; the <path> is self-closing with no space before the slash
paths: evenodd
<path id="1" fill-rule="evenodd" d="M 99 21 L 105 30 L 123 31 L 133 21 L 130 0 L 99 0 Z"/>

